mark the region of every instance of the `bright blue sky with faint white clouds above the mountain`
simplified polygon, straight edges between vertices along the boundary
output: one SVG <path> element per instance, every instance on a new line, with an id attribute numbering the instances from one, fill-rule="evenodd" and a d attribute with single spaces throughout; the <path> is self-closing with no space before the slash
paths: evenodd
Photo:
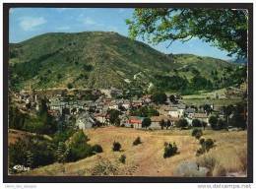
<path id="1" fill-rule="evenodd" d="M 45 32 L 104 31 L 128 36 L 125 20 L 132 14 L 131 8 L 12 8 L 9 12 L 9 40 L 21 42 Z M 189 53 L 231 59 L 226 51 L 196 37 L 184 43 L 174 41 L 168 48 L 167 41 L 150 45 L 166 54 Z"/>

